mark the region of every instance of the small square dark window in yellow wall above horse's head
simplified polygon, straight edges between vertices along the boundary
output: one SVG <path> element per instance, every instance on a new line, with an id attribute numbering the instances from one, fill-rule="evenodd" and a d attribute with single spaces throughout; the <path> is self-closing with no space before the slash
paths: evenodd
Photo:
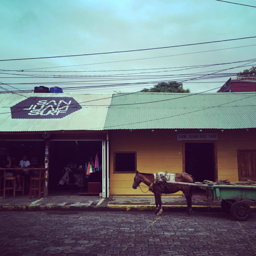
<path id="1" fill-rule="evenodd" d="M 126 173 L 136 172 L 137 156 L 136 152 L 115 152 L 114 172 Z"/>

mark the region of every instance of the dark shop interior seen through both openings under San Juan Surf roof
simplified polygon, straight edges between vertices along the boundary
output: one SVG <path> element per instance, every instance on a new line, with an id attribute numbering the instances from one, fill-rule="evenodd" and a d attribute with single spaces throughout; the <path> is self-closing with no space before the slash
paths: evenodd
<path id="1" fill-rule="evenodd" d="M 45 167 L 45 141 L 0 141 L 0 167 Z M 90 166 L 89 166 L 90 163 Z M 99 195 L 102 192 L 102 141 L 50 141 L 48 195 Z"/>

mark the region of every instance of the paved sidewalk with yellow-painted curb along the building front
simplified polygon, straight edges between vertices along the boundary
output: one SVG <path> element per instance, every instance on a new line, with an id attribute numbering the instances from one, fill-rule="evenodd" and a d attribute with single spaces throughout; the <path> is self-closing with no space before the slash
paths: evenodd
<path id="1" fill-rule="evenodd" d="M 185 211 L 185 198 L 163 197 L 164 211 Z M 155 210 L 153 197 L 113 197 L 101 198 L 97 196 L 49 196 L 46 198 L 32 198 L 28 196 L 0 197 L 0 211 L 43 211 L 43 210 L 100 210 L 100 211 L 136 211 Z M 220 201 L 207 198 L 192 198 L 194 211 L 220 211 Z"/>

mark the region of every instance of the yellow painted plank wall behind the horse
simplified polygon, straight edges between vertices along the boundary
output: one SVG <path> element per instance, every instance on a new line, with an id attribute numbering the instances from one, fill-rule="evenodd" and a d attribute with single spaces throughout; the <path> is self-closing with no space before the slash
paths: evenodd
<path id="1" fill-rule="evenodd" d="M 203 133 L 218 133 L 217 147 L 217 179 L 238 181 L 237 150 L 256 148 L 256 131 L 249 130 L 208 130 Z M 140 172 L 182 172 L 183 142 L 177 141 L 177 133 L 200 133 L 198 130 L 133 130 L 110 131 L 110 195 L 153 195 L 143 194 L 140 188 L 132 189 L 135 173 L 113 173 L 113 152 L 136 151 L 137 170 Z M 196 141 L 193 141 L 196 142 Z M 200 141 L 198 141 L 200 142 Z M 147 188 L 143 188 L 147 191 Z M 178 192 L 174 196 L 181 196 Z"/>

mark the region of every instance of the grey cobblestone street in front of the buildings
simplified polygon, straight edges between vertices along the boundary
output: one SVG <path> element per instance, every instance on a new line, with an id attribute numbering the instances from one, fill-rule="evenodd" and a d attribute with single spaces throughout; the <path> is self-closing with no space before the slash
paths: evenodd
<path id="1" fill-rule="evenodd" d="M 256 255 L 256 215 L 1 212 L 0 255 Z"/>

